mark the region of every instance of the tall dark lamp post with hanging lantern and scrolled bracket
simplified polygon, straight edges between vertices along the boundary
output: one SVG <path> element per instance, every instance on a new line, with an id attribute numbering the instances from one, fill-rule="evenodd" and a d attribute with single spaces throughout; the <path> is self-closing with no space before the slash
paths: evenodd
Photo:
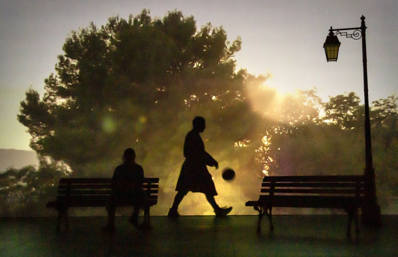
<path id="1" fill-rule="evenodd" d="M 340 47 L 337 35 L 351 37 L 353 39 L 362 38 L 362 61 L 363 61 L 363 90 L 365 93 L 365 204 L 362 208 L 362 223 L 365 226 L 381 226 L 380 206 L 376 198 L 375 169 L 372 160 L 372 141 L 371 141 L 371 123 L 369 118 L 369 99 L 368 99 L 368 72 L 366 58 L 366 26 L 365 17 L 361 17 L 361 27 L 333 29 L 330 27 L 329 35 L 326 37 L 324 49 L 327 61 L 337 61 Z M 351 34 L 341 32 L 353 30 Z M 336 35 L 333 31 L 336 31 Z"/>

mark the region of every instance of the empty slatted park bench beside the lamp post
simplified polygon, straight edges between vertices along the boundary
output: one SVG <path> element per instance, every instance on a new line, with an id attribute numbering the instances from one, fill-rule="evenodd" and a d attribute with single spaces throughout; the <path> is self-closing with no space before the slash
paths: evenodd
<path id="1" fill-rule="evenodd" d="M 348 214 L 347 236 L 351 236 L 351 223 L 355 219 L 355 232 L 359 233 L 358 208 L 363 205 L 364 176 L 265 176 L 257 201 L 246 206 L 259 212 L 257 231 L 261 231 L 261 218 L 267 215 L 272 224 L 273 207 L 338 208 Z"/>

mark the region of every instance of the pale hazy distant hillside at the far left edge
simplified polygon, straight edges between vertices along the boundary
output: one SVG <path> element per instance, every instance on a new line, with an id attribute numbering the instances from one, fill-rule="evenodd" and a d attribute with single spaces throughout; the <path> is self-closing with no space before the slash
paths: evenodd
<path id="1" fill-rule="evenodd" d="M 27 165 L 38 164 L 35 151 L 0 149 L 0 173 L 6 171 L 8 167 L 20 169 Z"/>

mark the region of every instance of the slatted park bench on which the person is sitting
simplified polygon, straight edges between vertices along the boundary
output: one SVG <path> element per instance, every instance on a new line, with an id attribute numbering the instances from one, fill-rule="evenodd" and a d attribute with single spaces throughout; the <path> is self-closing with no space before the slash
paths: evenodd
<path id="1" fill-rule="evenodd" d="M 60 220 L 65 218 L 68 228 L 69 207 L 106 207 L 112 193 L 111 178 L 61 178 L 58 185 L 58 194 L 55 201 L 48 202 L 46 207 L 58 211 L 57 230 L 60 229 Z M 142 189 L 150 199 L 150 206 L 158 202 L 159 178 L 144 178 Z M 119 202 L 118 206 L 132 206 L 131 202 Z M 149 208 L 144 210 L 144 220 L 149 221 Z"/>

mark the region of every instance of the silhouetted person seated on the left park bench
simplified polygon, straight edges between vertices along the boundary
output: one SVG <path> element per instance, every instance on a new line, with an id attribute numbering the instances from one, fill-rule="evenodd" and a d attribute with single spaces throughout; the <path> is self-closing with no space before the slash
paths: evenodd
<path id="1" fill-rule="evenodd" d="M 123 164 L 116 167 L 113 173 L 111 188 L 112 194 L 107 204 L 108 224 L 102 228 L 103 231 L 113 232 L 115 230 L 115 212 L 118 204 L 123 201 L 134 204 L 134 211 L 129 219 L 129 223 L 136 228 L 139 226 L 138 214 L 140 208 L 144 210 L 149 206 L 149 199 L 142 190 L 142 180 L 144 170 L 135 163 L 135 151 L 127 148 L 123 153 Z M 145 224 L 143 224 L 145 225 Z"/>

